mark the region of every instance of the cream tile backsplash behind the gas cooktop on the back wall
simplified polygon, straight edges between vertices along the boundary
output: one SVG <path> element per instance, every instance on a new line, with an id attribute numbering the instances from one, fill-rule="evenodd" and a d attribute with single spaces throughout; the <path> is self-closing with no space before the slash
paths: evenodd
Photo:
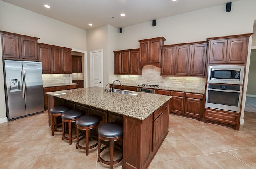
<path id="1" fill-rule="evenodd" d="M 152 65 L 142 68 L 142 75 L 116 75 L 123 85 L 150 84 L 172 88 L 188 88 L 204 90 L 204 77 L 164 77 L 160 76 L 161 69 Z M 112 79 L 112 81 L 115 79 Z"/>

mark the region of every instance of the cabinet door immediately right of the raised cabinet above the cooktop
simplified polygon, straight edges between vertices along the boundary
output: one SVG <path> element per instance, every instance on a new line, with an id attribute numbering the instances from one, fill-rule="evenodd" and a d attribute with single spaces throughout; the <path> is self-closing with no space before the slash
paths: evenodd
<path id="1" fill-rule="evenodd" d="M 161 75 L 173 75 L 175 47 L 162 48 Z"/>

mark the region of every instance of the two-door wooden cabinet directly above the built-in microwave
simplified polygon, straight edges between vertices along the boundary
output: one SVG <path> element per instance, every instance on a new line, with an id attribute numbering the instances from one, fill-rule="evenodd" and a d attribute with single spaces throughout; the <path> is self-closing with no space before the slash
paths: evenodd
<path id="1" fill-rule="evenodd" d="M 208 38 L 209 64 L 245 64 L 252 33 Z"/>

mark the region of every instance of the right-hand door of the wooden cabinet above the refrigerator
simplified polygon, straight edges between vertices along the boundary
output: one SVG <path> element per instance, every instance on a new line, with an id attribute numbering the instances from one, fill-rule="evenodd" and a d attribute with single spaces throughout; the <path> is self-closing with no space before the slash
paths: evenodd
<path id="1" fill-rule="evenodd" d="M 38 61 L 37 40 L 21 37 L 22 59 Z"/>

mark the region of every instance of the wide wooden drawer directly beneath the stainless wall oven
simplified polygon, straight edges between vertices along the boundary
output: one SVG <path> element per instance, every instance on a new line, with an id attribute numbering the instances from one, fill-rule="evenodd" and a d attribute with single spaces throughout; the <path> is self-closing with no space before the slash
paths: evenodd
<path id="1" fill-rule="evenodd" d="M 205 118 L 216 122 L 226 124 L 238 124 L 238 115 L 229 114 L 225 112 L 217 112 L 212 110 L 205 110 Z"/>

